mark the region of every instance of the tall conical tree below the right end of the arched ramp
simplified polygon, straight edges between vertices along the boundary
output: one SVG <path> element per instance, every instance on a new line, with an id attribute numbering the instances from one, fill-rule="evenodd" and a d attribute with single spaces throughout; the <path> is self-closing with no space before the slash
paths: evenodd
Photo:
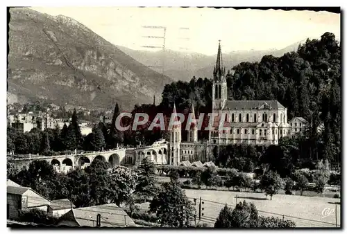
<path id="1" fill-rule="evenodd" d="M 138 196 L 141 195 L 144 199 L 151 199 L 158 188 L 155 186 L 155 182 L 157 181 L 155 177 L 155 165 L 148 157 L 142 160 L 137 175 L 135 193 Z"/>

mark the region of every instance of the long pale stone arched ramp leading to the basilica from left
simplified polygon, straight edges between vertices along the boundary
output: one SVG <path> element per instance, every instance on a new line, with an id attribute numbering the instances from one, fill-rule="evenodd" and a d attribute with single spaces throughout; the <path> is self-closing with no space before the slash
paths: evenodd
<path id="1" fill-rule="evenodd" d="M 14 155 L 14 159 L 8 159 L 19 167 L 27 166 L 31 161 L 45 160 L 58 171 L 67 172 L 71 169 L 85 168 L 95 159 L 108 162 L 109 168 L 117 165 L 133 166 L 139 165 L 142 159 L 150 157 L 155 164 L 168 164 L 167 144 L 149 145 L 135 148 L 121 148 L 117 150 L 105 150 L 101 152 L 88 152 L 83 154 L 65 154 L 55 156 L 29 156 L 19 158 Z"/>

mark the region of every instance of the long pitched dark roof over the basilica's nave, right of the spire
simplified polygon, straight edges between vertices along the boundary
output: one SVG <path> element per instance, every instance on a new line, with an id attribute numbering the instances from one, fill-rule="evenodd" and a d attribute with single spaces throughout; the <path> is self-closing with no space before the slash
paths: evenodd
<path id="1" fill-rule="evenodd" d="M 227 100 L 224 109 L 285 109 L 277 100 Z"/>

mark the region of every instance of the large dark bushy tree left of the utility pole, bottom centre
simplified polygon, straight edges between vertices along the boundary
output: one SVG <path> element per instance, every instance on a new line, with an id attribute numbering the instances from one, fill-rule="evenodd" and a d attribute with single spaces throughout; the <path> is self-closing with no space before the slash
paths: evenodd
<path id="1" fill-rule="evenodd" d="M 189 219 L 194 215 L 192 202 L 177 183 L 163 183 L 149 208 L 151 212 L 156 213 L 162 226 L 178 227 L 182 220 L 182 210 L 184 210 L 183 226 L 189 226 Z"/>

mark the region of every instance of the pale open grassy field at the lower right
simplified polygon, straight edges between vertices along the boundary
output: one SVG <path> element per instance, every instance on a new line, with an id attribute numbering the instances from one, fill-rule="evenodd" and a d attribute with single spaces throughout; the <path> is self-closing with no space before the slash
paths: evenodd
<path id="1" fill-rule="evenodd" d="M 194 198 L 203 199 L 202 222 L 206 222 L 212 226 L 217 218 L 219 211 L 225 204 L 232 207 L 237 202 L 246 200 L 253 202 L 259 211 L 259 215 L 274 216 L 285 219 L 291 219 L 296 223 L 297 227 L 335 227 L 335 212 L 337 212 L 337 224 L 340 225 L 341 206 L 335 203 L 341 202 L 340 199 L 329 197 L 305 197 L 293 195 L 274 195 L 272 201 L 268 197 L 266 199 L 263 193 L 255 192 L 231 192 L 231 191 L 216 191 L 216 190 L 185 190 L 187 197 L 193 200 Z M 141 204 L 142 209 L 148 209 L 149 204 Z M 335 210 L 337 206 L 337 210 Z M 334 209 L 333 213 L 327 217 L 323 217 L 324 209 Z M 196 205 L 198 210 L 198 202 Z"/>

